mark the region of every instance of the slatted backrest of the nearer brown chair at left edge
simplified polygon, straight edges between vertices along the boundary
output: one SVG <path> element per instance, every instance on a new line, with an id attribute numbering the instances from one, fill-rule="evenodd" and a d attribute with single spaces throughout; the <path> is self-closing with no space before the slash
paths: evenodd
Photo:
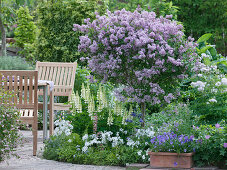
<path id="1" fill-rule="evenodd" d="M 0 70 L 0 88 L 14 94 L 8 104 L 18 109 L 38 109 L 38 71 Z"/>

